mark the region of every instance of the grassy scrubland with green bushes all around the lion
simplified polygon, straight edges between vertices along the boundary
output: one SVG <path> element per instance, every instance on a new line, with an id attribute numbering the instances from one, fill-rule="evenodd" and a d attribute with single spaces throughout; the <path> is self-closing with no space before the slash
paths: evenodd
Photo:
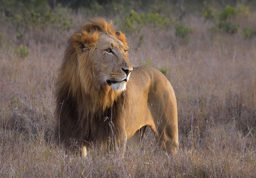
<path id="1" fill-rule="evenodd" d="M 0 177 L 255 177 L 255 1 L 0 4 Z M 52 141 L 54 83 L 66 42 L 94 16 L 126 33 L 133 65 L 157 67 L 174 87 L 176 155 L 162 151 L 150 129 L 124 157 L 90 148 L 82 158 Z"/>

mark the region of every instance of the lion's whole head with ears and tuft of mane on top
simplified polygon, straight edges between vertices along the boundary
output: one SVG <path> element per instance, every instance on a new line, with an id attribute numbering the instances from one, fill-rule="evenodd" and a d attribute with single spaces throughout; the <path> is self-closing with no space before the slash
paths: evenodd
<path id="1" fill-rule="evenodd" d="M 109 85 L 114 91 L 124 91 L 133 70 L 125 35 L 101 18 L 83 24 L 81 30 L 72 36 L 72 45 L 80 78 L 85 82 L 82 85 L 91 87 L 90 83 L 98 90 Z"/>

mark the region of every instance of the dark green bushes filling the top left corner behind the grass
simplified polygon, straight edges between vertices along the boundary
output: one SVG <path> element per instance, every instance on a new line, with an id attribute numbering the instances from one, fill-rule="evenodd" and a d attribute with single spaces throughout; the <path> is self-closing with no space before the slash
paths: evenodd
<path id="1" fill-rule="evenodd" d="M 6 20 L 12 21 L 19 32 L 27 31 L 31 27 L 45 30 L 47 26 L 62 31 L 73 26 L 72 18 L 67 16 L 71 11 L 61 5 L 51 10 L 47 0 L 3 1 L 0 11 L 4 12 Z M 17 39 L 21 38 L 22 33 L 17 36 Z"/>

